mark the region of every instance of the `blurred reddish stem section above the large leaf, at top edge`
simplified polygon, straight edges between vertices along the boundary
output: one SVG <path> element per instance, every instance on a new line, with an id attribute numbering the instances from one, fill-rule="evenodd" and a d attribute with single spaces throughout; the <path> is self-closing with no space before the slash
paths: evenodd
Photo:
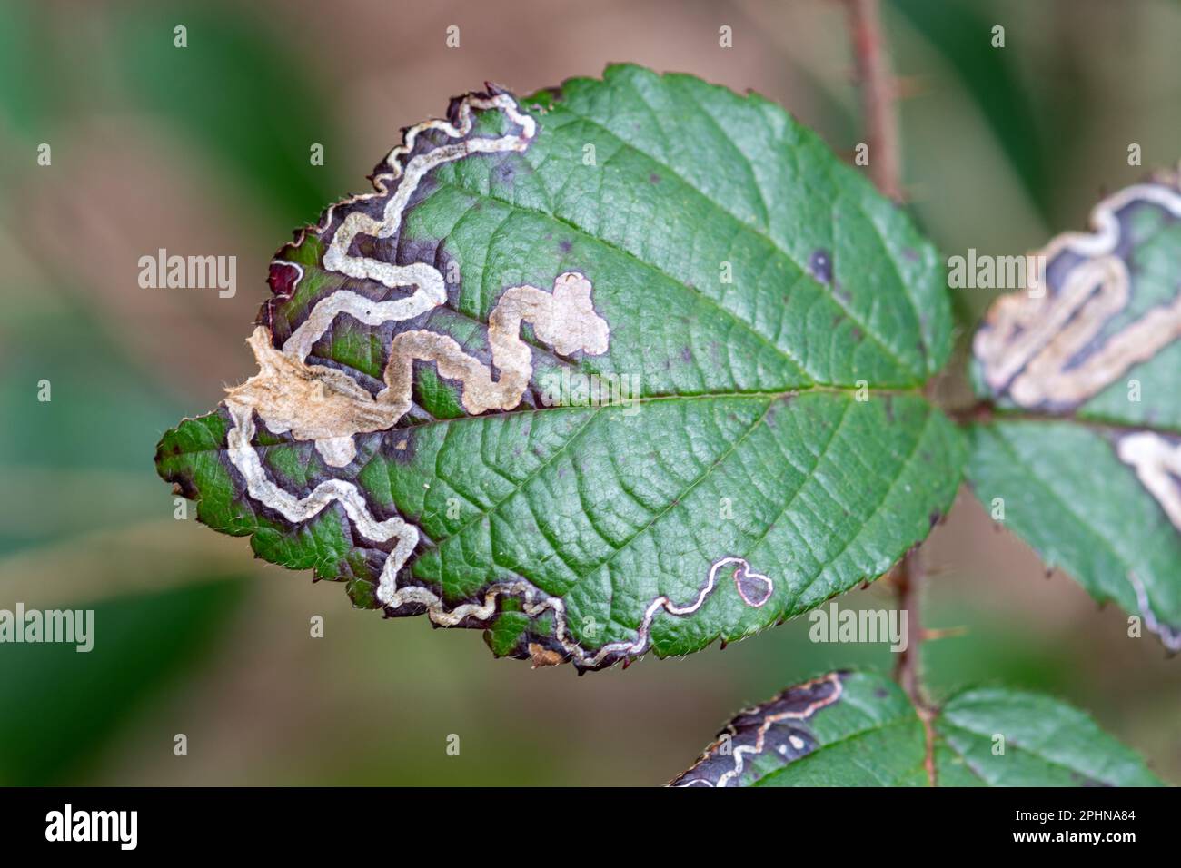
<path id="1" fill-rule="evenodd" d="M 902 198 L 902 182 L 894 105 L 896 87 L 882 39 L 881 9 L 877 0 L 847 0 L 847 5 L 868 126 L 869 176 L 879 190 L 898 202 Z"/>

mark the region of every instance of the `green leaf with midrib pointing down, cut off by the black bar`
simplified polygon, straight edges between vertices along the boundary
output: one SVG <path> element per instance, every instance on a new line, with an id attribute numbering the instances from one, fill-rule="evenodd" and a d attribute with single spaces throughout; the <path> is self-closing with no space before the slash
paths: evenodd
<path id="1" fill-rule="evenodd" d="M 966 690 L 932 716 L 942 787 L 1161 782 L 1083 712 L 1049 697 Z M 674 787 L 926 787 L 922 720 L 893 681 L 833 672 L 737 714 Z"/>

